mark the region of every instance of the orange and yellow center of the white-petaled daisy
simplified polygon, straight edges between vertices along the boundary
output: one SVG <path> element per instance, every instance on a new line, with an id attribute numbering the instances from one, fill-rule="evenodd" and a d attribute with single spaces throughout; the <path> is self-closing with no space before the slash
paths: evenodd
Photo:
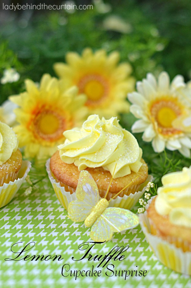
<path id="1" fill-rule="evenodd" d="M 172 97 L 157 99 L 152 103 L 150 112 L 152 122 L 161 134 L 173 135 L 182 132 L 172 126 L 172 122 L 182 114 L 181 106 L 176 99 Z"/>

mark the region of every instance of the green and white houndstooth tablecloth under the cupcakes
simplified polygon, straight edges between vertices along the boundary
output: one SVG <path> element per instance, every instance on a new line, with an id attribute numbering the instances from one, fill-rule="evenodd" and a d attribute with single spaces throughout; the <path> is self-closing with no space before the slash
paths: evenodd
<path id="1" fill-rule="evenodd" d="M 67 217 L 67 211 L 60 205 L 48 177 L 35 184 L 33 192 L 27 197 L 25 188 L 21 188 L 7 206 L 0 210 L 1 225 L 1 259 L 0 259 L 0 287 L 1 288 L 61 288 L 61 287 L 165 287 L 165 288 L 189 288 L 191 277 L 178 274 L 164 267 L 153 255 L 140 226 L 123 233 L 115 234 L 107 243 L 95 244 L 91 254 L 105 255 L 116 245 L 127 246 L 125 259 L 122 261 L 113 259 L 108 264 L 112 270 L 147 270 L 146 276 L 107 276 L 112 275 L 106 266 L 97 268 L 99 261 L 81 261 L 84 251 L 79 251 L 78 246 L 89 238 L 89 229 L 83 223 L 73 223 Z M 18 254 L 11 252 L 21 251 L 28 243 L 35 242 L 35 246 L 23 252 L 17 259 L 26 255 L 62 255 L 61 261 L 5 261 L 15 259 Z M 34 245 L 34 243 L 33 243 Z M 28 246 L 29 248 L 29 246 Z M 26 248 L 26 249 L 28 249 Z M 48 258 L 46 258 L 48 259 Z M 74 270 L 101 270 L 101 276 L 64 277 L 61 274 L 62 266 L 69 264 Z M 137 266 L 137 267 L 136 267 Z M 68 268 L 69 266 L 67 266 Z M 65 272 L 66 273 L 66 272 Z M 83 272 L 84 273 L 84 272 Z M 109 274 L 110 273 L 110 274 Z"/>

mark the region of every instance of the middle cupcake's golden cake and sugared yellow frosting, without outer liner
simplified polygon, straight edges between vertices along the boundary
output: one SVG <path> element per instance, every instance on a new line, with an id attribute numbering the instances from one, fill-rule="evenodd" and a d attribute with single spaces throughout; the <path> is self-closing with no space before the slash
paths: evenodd
<path id="1" fill-rule="evenodd" d="M 142 150 L 137 140 L 119 125 L 116 117 L 105 120 L 90 115 L 82 128 L 67 130 L 64 136 L 64 144 L 58 146 L 58 151 L 50 159 L 50 170 L 48 167 L 49 176 L 60 187 L 73 194 L 80 171 L 87 169 L 97 183 L 100 197 L 105 196 L 113 176 L 106 199 L 117 198 L 119 204 L 124 196 L 134 195 L 131 204 L 135 204 L 132 198 L 147 179 L 148 167 L 141 158 Z M 130 186 L 116 197 L 128 184 Z M 55 190 L 55 185 L 53 187 Z M 127 201 L 123 202 L 126 203 L 120 207 L 126 208 Z"/>

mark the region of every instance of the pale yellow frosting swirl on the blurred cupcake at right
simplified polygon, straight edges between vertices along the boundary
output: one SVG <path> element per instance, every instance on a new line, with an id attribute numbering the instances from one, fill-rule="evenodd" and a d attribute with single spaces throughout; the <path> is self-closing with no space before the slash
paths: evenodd
<path id="1" fill-rule="evenodd" d="M 191 166 L 164 175 L 162 184 L 157 190 L 156 212 L 168 215 L 173 224 L 191 228 Z"/>

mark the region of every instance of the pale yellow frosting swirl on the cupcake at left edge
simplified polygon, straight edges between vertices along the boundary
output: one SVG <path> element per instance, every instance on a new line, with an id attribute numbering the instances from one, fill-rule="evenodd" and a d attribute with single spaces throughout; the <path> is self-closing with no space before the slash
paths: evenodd
<path id="1" fill-rule="evenodd" d="M 5 163 L 17 148 L 17 135 L 11 127 L 0 122 L 0 165 Z"/>

